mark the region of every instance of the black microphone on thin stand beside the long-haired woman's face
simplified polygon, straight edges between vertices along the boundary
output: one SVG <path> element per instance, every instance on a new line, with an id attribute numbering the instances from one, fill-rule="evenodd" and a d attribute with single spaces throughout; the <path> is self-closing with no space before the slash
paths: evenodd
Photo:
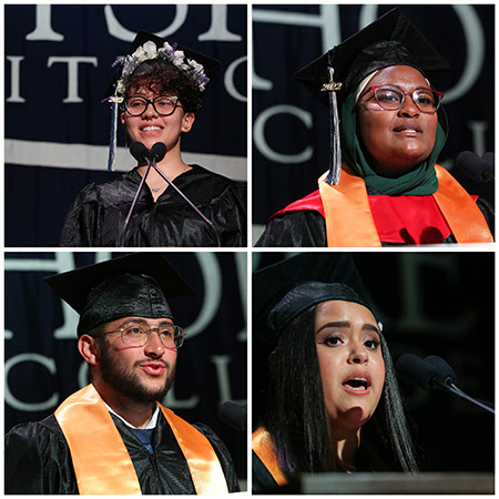
<path id="1" fill-rule="evenodd" d="M 450 391 L 489 413 L 496 414 L 492 404 L 477 400 L 455 385 L 456 373 L 441 357 L 430 355 L 422 360 L 416 355 L 404 354 L 398 359 L 395 370 L 400 378 L 414 383 L 424 389 Z"/>

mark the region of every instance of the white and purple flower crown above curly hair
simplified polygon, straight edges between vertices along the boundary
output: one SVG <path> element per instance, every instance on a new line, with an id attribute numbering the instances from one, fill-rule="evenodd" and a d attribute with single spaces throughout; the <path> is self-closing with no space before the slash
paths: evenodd
<path id="1" fill-rule="evenodd" d="M 139 47 L 132 54 L 129 54 L 123 59 L 116 59 L 113 67 L 121 65 L 122 73 L 121 78 L 116 82 L 115 95 L 123 95 L 126 83 L 133 72 L 143 62 L 152 59 L 160 59 L 162 61 L 171 62 L 173 65 L 186 73 L 186 75 L 197 84 L 201 92 L 204 92 L 207 83 L 210 82 L 210 78 L 207 78 L 204 73 L 203 64 L 200 64 L 194 59 L 186 59 L 182 50 L 175 50 L 176 45 L 176 43 L 171 45 L 169 42 L 164 42 L 163 47 L 157 49 L 153 41 L 147 41 L 142 47 Z"/>

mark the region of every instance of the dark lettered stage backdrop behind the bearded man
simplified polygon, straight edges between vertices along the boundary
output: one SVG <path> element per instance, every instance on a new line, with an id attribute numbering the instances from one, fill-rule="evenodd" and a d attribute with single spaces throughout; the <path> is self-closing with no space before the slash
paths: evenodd
<path id="1" fill-rule="evenodd" d="M 112 254 L 118 256 L 116 253 Z M 6 431 L 40 420 L 88 385 L 77 349 L 78 315 L 43 277 L 109 259 L 111 253 L 11 253 L 6 258 Z M 169 301 L 187 333 L 179 350 L 176 381 L 165 405 L 201 421 L 224 440 L 240 478 L 246 478 L 247 439 L 222 422 L 218 405 L 246 405 L 246 254 L 165 255 L 195 294 Z"/>

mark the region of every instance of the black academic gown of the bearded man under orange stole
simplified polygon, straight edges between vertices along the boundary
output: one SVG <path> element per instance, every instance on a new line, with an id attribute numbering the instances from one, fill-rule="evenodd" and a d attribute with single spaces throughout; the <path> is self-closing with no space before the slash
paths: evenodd
<path id="1" fill-rule="evenodd" d="M 153 455 L 120 418 L 111 416 L 135 467 L 142 493 L 196 493 L 187 462 L 162 414 L 152 436 Z M 222 440 L 206 426 L 194 426 L 215 449 L 228 491 L 238 491 L 234 465 Z M 79 493 L 71 454 L 53 415 L 40 422 L 18 425 L 9 431 L 4 487 L 6 493 Z"/>

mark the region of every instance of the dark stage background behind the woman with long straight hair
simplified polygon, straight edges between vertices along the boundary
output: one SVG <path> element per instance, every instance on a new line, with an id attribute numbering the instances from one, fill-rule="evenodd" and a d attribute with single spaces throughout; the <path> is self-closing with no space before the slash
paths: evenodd
<path id="1" fill-rule="evenodd" d="M 253 271 L 283 255 L 254 253 Z M 459 388 L 493 401 L 495 254 L 354 253 L 354 259 L 394 363 L 406 353 L 440 356 L 455 369 Z M 253 348 L 255 411 L 261 408 L 257 375 L 264 363 Z M 405 383 L 400 388 L 422 470 L 493 472 L 493 415 L 445 391 Z"/>

